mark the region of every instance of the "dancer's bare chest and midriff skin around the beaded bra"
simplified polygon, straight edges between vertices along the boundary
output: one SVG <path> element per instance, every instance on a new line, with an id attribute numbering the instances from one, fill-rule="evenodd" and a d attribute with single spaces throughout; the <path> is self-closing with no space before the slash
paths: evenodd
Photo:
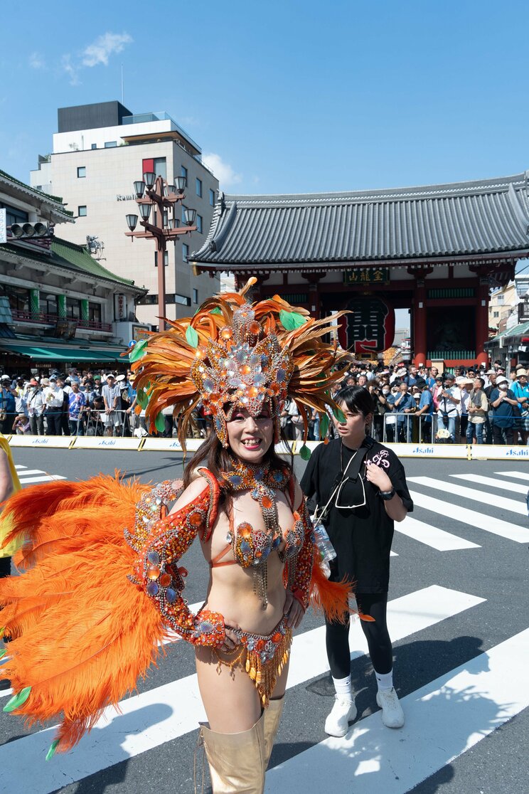
<path id="1" fill-rule="evenodd" d="M 293 525 L 293 515 L 288 499 L 281 492 L 276 493 L 278 503 L 278 521 L 282 533 Z M 255 530 L 263 529 L 263 515 L 259 503 L 251 499 L 247 491 L 234 495 L 233 498 L 234 528 L 246 521 Z M 230 529 L 228 515 L 219 511 L 211 538 L 202 543 L 202 551 L 206 561 L 211 561 L 226 548 L 226 536 Z M 233 560 L 232 549 L 222 557 L 222 561 Z M 240 626 L 254 634 L 270 634 L 281 620 L 285 605 L 286 592 L 283 585 L 284 564 L 277 552 L 270 553 L 266 561 L 267 567 L 267 599 L 266 608 L 254 592 L 254 568 L 242 568 L 240 565 L 222 565 L 210 569 L 206 608 L 220 612 L 226 624 Z"/>

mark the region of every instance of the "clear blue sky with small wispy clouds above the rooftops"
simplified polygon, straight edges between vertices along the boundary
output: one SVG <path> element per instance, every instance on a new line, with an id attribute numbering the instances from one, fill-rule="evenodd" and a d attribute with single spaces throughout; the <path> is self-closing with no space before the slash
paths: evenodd
<path id="1" fill-rule="evenodd" d="M 0 168 L 29 181 L 58 107 L 167 110 L 228 193 L 529 168 L 526 2 L 25 2 L 0 64 Z M 33 24 L 32 24 L 33 20 Z"/>

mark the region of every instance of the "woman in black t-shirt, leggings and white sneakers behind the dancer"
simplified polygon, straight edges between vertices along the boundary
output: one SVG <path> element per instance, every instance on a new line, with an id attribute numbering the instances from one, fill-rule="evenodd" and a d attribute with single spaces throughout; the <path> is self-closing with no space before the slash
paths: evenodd
<path id="1" fill-rule="evenodd" d="M 346 387 L 335 395 L 345 422 L 335 420 L 338 435 L 320 444 L 310 458 L 301 488 L 321 509 L 330 500 L 324 524 L 336 551 L 331 580 L 347 578 L 355 587 L 362 630 L 378 683 L 377 703 L 387 727 L 404 725 L 404 714 L 393 688 L 393 649 L 386 625 L 389 553 L 393 522 L 402 521 L 413 503 L 404 468 L 384 445 L 366 436 L 373 400 L 366 388 Z M 325 731 L 344 736 L 356 716 L 351 693 L 349 628 L 326 623 L 329 666 L 335 703 Z"/>

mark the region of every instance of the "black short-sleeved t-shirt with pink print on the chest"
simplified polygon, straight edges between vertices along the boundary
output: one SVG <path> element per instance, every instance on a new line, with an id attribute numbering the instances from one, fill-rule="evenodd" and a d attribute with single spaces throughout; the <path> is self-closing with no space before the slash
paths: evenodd
<path id="1" fill-rule="evenodd" d="M 377 486 L 366 480 L 366 461 L 384 469 L 408 512 L 413 510 L 413 502 L 397 455 L 369 436 L 360 448 L 360 454 L 364 452 L 358 477 L 346 480 L 339 491 L 339 507 L 335 506 L 335 497 L 324 524 L 336 550 L 331 580 L 339 581 L 345 576 L 355 583 L 358 593 L 381 593 L 389 587 L 393 519 L 385 511 Z M 301 478 L 301 489 L 307 497 L 316 499 L 318 507 L 328 502 L 353 455 L 355 450 L 347 449 L 339 438 L 316 447 Z M 366 503 L 362 505 L 364 493 Z"/>

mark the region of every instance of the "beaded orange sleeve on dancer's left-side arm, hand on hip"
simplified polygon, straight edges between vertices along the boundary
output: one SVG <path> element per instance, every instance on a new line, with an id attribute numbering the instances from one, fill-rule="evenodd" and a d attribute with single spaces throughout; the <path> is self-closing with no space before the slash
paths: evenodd
<path id="1" fill-rule="evenodd" d="M 178 560 L 190 548 L 201 530 L 208 538 L 217 516 L 219 489 L 209 472 L 201 494 L 181 510 L 159 518 L 138 553 L 134 574 L 128 578 L 144 590 L 174 631 L 193 645 L 216 646 L 224 640 L 224 618 L 218 612 L 201 611 L 194 615 L 182 598 L 185 568 Z M 209 475 L 209 476 L 207 476 Z M 160 511 L 162 507 L 160 505 Z"/>

